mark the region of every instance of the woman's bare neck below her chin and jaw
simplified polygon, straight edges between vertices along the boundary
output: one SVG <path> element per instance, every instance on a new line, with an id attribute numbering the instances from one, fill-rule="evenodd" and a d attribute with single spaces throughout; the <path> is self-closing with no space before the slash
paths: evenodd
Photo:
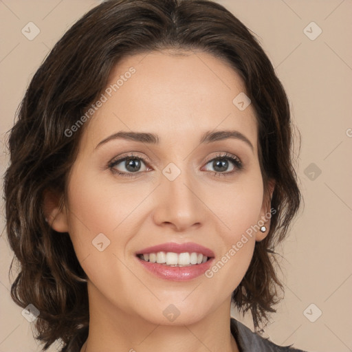
<path id="1" fill-rule="evenodd" d="M 88 292 L 89 336 L 80 352 L 239 352 L 230 331 L 230 298 L 192 324 L 161 325 L 116 307 L 90 283 Z"/>

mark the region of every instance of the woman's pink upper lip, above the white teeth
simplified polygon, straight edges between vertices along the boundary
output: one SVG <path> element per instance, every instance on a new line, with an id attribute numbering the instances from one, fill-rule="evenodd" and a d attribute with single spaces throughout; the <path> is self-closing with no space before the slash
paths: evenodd
<path id="1" fill-rule="evenodd" d="M 204 256 L 214 257 L 215 254 L 209 248 L 204 247 L 203 245 L 199 245 L 193 242 L 186 243 L 175 243 L 168 242 L 162 243 L 160 245 L 153 245 L 153 247 L 144 248 L 143 250 L 139 250 L 136 254 L 148 254 L 148 253 L 156 253 L 156 252 L 174 252 L 174 253 L 184 253 L 184 252 L 197 252 L 201 253 Z"/>

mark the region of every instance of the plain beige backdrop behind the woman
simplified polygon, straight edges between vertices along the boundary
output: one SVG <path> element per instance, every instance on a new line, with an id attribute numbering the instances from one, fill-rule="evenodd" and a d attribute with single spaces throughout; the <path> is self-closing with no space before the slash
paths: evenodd
<path id="1" fill-rule="evenodd" d="M 30 78 L 61 35 L 94 0 L 0 0 L 1 148 Z M 352 1 L 227 0 L 259 38 L 281 78 L 303 138 L 297 170 L 305 199 L 281 252 L 285 300 L 265 333 L 307 351 L 352 351 Z M 40 34 L 21 33 L 34 22 Z M 314 41 L 304 28 L 314 21 Z M 311 27 L 311 26 L 310 26 Z M 309 35 L 318 28 L 308 27 Z M 8 157 L 1 153 L 1 175 Z M 309 164 L 321 170 L 311 179 Z M 316 174 L 317 175 L 317 174 Z M 3 203 L 1 203 L 3 214 Z M 4 227 L 3 216 L 1 229 Z M 0 238 L 0 352 L 40 351 L 32 326 L 9 295 L 12 254 Z M 311 303 L 314 307 L 306 314 Z M 306 316 L 317 317 L 310 322 Z M 236 312 L 233 311 L 234 316 Z M 250 317 L 243 319 L 249 327 Z M 50 351 L 56 351 L 52 348 Z"/>

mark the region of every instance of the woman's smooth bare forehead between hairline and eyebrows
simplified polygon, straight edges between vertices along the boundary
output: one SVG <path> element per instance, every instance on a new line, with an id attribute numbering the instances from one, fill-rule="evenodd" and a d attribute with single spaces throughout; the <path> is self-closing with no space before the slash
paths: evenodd
<path id="1" fill-rule="evenodd" d="M 133 73 L 131 73 L 133 72 Z M 256 118 L 250 104 L 233 100 L 245 92 L 228 63 L 204 52 L 149 52 L 128 56 L 110 72 L 106 101 L 89 121 L 92 143 L 117 131 L 152 132 L 160 143 L 199 137 L 204 131 L 236 129 L 256 148 Z"/>

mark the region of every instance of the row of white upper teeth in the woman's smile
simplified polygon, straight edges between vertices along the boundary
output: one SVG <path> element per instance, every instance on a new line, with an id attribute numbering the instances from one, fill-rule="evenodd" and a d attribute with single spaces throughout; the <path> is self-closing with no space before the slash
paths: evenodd
<path id="1" fill-rule="evenodd" d="M 206 261 L 208 261 L 208 256 L 203 256 L 203 254 L 196 252 L 157 252 L 140 254 L 140 259 L 144 259 L 144 261 L 148 261 L 150 263 L 158 263 L 163 265 L 189 266 L 206 263 Z"/>

